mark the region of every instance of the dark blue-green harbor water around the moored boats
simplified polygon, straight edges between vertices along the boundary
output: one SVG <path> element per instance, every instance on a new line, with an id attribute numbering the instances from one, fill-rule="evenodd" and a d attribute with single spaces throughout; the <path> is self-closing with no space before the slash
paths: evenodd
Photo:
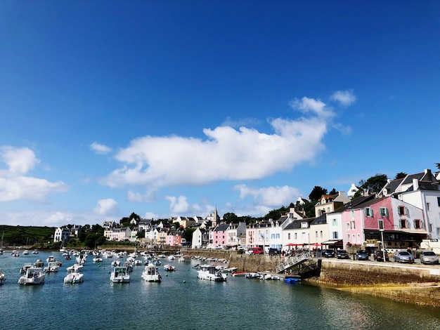
<path id="1" fill-rule="evenodd" d="M 63 261 L 46 274 L 43 285 L 18 284 L 25 263 L 49 254 Z M 64 284 L 66 268 L 75 263 L 61 253 L 0 256 L 6 282 L 0 286 L 3 329 L 440 329 L 440 310 L 408 305 L 304 283 L 245 279 L 226 282 L 198 279 L 195 265 L 162 259 L 176 267 L 161 283 L 141 279 L 134 266 L 130 283 L 110 282 L 112 259 L 84 265 L 84 282 Z M 139 260 L 144 260 L 141 256 Z M 124 260 L 124 259 L 119 259 Z"/>

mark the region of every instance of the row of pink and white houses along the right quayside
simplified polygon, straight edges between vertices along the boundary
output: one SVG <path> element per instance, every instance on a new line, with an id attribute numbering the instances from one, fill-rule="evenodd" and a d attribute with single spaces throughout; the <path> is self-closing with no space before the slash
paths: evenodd
<path id="1" fill-rule="evenodd" d="M 250 249 L 261 246 L 288 249 L 325 249 L 359 246 L 377 249 L 418 247 L 422 239 L 440 238 L 439 180 L 427 169 L 389 180 L 378 194 L 348 199 L 344 192 L 323 195 L 316 218 L 303 218 L 291 208 L 277 220 L 246 227 L 242 223 L 198 228 L 193 247 Z"/>

